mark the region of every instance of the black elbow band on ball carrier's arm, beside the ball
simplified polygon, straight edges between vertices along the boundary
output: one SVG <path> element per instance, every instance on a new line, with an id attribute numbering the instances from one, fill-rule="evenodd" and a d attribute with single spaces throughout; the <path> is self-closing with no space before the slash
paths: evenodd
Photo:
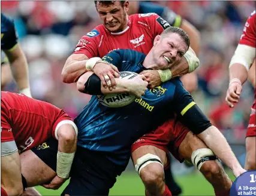
<path id="1" fill-rule="evenodd" d="M 83 93 L 91 95 L 103 94 L 101 93 L 101 80 L 95 73 L 89 76 L 88 80 L 85 82 Z"/>

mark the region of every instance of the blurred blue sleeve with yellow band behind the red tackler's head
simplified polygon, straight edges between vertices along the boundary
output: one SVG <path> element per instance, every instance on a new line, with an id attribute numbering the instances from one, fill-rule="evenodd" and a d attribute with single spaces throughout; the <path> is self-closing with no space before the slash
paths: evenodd
<path id="1" fill-rule="evenodd" d="M 170 10 L 168 7 L 162 7 L 161 5 L 152 2 L 140 1 L 138 13 L 156 13 L 166 20 L 171 26 L 175 27 L 180 27 L 182 23 L 182 18 L 174 13 L 174 11 Z"/>

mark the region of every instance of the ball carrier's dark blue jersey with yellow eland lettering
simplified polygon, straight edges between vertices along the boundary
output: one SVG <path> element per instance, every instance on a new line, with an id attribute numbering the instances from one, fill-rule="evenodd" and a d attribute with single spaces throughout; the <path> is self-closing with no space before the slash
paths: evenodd
<path id="1" fill-rule="evenodd" d="M 133 50 L 116 50 L 103 60 L 116 65 L 119 71 L 140 73 L 145 70 L 145 54 Z M 127 164 L 132 143 L 149 131 L 155 130 L 174 112 L 185 112 L 194 104 L 179 78 L 148 89 L 141 99 L 122 108 L 101 105 L 97 96 L 74 120 L 79 128 L 77 144 L 92 151 L 108 152 L 116 164 Z"/>

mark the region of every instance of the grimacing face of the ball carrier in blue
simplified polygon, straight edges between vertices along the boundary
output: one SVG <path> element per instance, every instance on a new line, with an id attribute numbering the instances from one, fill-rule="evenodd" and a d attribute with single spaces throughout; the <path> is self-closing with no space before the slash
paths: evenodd
<path id="1" fill-rule="evenodd" d="M 176 65 L 188 50 L 188 45 L 177 33 L 169 33 L 156 42 L 153 59 L 158 69 L 168 69 Z"/>

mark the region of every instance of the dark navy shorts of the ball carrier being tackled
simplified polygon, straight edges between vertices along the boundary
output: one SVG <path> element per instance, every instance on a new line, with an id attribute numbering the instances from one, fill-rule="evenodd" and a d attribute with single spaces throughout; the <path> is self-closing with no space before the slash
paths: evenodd
<path id="1" fill-rule="evenodd" d="M 33 148 L 32 151 L 56 171 L 58 141 L 50 139 L 49 148 Z M 116 182 L 126 166 L 119 166 L 107 158 L 106 152 L 89 151 L 77 146 L 76 155 L 71 167 L 70 183 L 61 195 L 109 195 L 109 189 Z"/>

